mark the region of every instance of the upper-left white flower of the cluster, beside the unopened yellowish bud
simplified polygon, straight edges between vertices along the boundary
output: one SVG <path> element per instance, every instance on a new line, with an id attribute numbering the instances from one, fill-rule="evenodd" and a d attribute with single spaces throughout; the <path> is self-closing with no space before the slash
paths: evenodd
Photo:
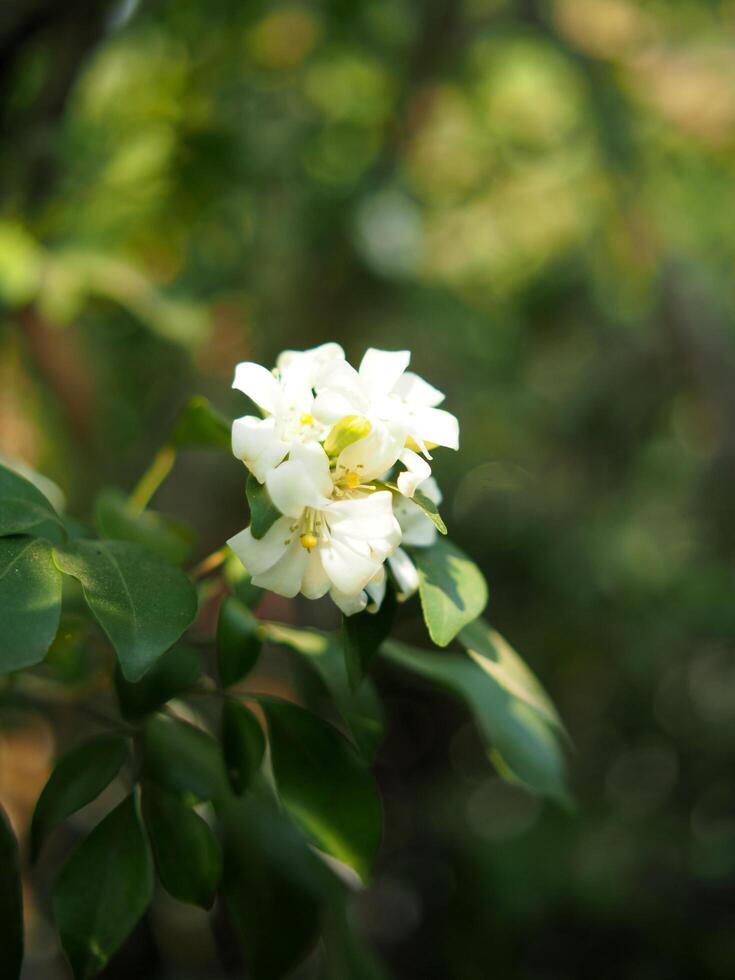
<path id="1" fill-rule="evenodd" d="M 235 369 L 233 388 L 246 394 L 265 418 L 244 415 L 232 425 L 232 451 L 260 483 L 286 458 L 294 443 L 321 441 L 330 423 L 314 410 L 314 391 L 325 370 L 344 361 L 339 344 L 308 351 L 284 351 L 274 372 L 243 361 Z"/>

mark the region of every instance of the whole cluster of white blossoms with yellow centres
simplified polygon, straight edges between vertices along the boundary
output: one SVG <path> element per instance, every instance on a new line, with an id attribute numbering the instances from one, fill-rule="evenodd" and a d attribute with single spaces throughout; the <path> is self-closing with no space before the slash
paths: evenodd
<path id="1" fill-rule="evenodd" d="M 355 370 L 339 344 L 323 344 L 284 351 L 273 371 L 237 365 L 233 387 L 262 417 L 235 420 L 232 451 L 283 515 L 261 538 L 246 528 L 228 542 L 255 585 L 329 593 L 351 615 L 380 605 L 387 561 L 399 594 L 415 591 L 400 544 L 429 546 L 436 528 L 410 498 L 420 487 L 439 503 L 429 450 L 457 449 L 459 426 L 437 407 L 444 395 L 407 370 L 410 356 L 370 348 Z"/>

